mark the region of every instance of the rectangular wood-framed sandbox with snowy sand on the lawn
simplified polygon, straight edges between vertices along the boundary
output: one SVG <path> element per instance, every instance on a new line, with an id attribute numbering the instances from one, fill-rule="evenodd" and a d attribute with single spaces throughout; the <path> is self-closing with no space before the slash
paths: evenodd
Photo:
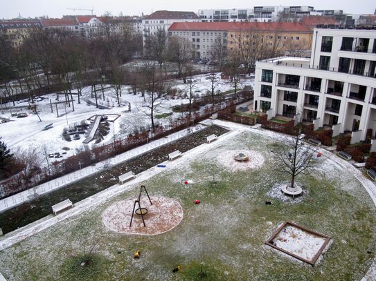
<path id="1" fill-rule="evenodd" d="M 330 238 L 294 222 L 284 222 L 265 244 L 314 265 Z"/>

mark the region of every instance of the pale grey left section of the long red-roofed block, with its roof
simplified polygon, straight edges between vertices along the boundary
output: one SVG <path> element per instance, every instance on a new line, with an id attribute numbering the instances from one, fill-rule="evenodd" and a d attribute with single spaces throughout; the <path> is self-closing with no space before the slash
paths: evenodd
<path id="1" fill-rule="evenodd" d="M 196 59 L 211 59 L 216 43 L 227 49 L 227 34 L 232 28 L 234 23 L 231 22 L 173 23 L 168 28 L 168 35 L 191 41 Z"/>

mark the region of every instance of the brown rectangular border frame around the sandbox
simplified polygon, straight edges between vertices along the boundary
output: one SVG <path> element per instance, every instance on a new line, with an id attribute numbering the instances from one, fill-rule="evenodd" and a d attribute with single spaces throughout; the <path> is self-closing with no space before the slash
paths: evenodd
<path id="1" fill-rule="evenodd" d="M 324 238 L 325 242 L 323 243 L 323 245 L 321 246 L 321 248 L 319 249 L 319 251 L 317 251 L 317 253 L 314 255 L 314 257 L 311 260 L 307 260 L 305 258 L 302 258 L 300 255 L 296 255 L 296 254 L 294 254 L 292 252 L 289 252 L 289 251 L 287 251 L 285 249 L 282 249 L 282 248 L 276 246 L 275 244 L 271 243 L 271 241 L 274 240 L 274 238 L 276 238 L 276 236 L 280 233 L 280 231 L 282 231 L 283 229 L 285 229 L 286 226 L 294 226 L 296 229 L 301 229 L 302 231 L 305 231 L 305 232 L 310 233 L 312 235 L 316 235 L 316 236 L 319 236 L 321 238 Z M 321 253 L 324 251 L 326 245 L 328 245 L 329 241 L 330 241 L 330 238 L 328 236 L 326 236 L 326 235 L 323 235 L 323 234 L 318 233 L 316 231 L 312 231 L 311 229 L 307 229 L 304 226 L 300 226 L 300 225 L 298 225 L 298 224 L 296 224 L 294 222 L 284 222 L 280 227 L 278 227 L 278 229 L 276 231 L 274 231 L 274 233 L 265 242 L 265 244 L 267 244 L 268 246 L 271 246 L 274 249 L 277 249 L 278 251 L 286 253 L 287 255 L 291 255 L 292 257 L 294 257 L 294 258 L 296 258 L 298 260 L 301 260 L 303 262 L 307 262 L 308 264 L 311 264 L 313 266 L 315 264 L 316 260 L 321 255 Z"/>

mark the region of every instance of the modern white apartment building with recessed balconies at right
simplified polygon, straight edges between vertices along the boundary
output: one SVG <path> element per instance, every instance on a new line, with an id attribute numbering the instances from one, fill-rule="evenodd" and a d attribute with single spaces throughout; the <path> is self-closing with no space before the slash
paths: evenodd
<path id="1" fill-rule="evenodd" d="M 352 131 L 376 130 L 376 30 L 315 29 L 312 57 L 256 63 L 253 108 Z"/>

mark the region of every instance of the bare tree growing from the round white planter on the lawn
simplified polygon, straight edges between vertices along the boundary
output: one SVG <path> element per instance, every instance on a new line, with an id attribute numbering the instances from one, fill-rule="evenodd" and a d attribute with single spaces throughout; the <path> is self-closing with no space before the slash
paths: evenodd
<path id="1" fill-rule="evenodd" d="M 302 128 L 296 128 L 296 134 L 292 137 L 283 139 L 283 144 L 280 145 L 276 151 L 276 158 L 280 165 L 277 170 L 280 173 L 291 176 L 290 188 L 294 190 L 296 176 L 302 174 L 309 174 L 311 168 L 316 166 L 315 156 L 317 150 L 308 146 L 303 142 Z"/>

